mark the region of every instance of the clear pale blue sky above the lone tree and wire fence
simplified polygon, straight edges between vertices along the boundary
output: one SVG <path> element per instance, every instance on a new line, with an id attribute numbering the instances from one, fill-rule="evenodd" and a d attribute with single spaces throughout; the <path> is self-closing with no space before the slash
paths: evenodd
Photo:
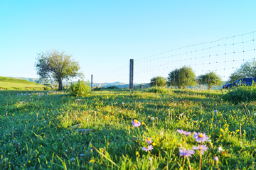
<path id="1" fill-rule="evenodd" d="M 36 78 L 37 54 L 56 49 L 73 55 L 85 79 L 107 81 L 131 58 L 255 31 L 255 8 L 255 0 L 0 0 L 0 76 Z"/>

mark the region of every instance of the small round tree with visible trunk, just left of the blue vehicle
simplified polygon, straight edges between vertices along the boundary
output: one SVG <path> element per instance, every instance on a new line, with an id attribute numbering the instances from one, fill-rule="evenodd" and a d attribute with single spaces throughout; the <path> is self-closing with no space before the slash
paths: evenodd
<path id="1" fill-rule="evenodd" d="M 208 90 L 211 89 L 213 85 L 221 83 L 221 78 L 215 74 L 215 72 L 209 72 L 203 75 L 203 84 L 208 86 Z"/>

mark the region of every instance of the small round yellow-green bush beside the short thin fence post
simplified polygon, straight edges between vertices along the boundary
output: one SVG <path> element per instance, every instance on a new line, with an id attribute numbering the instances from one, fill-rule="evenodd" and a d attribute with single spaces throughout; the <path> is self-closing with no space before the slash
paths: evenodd
<path id="1" fill-rule="evenodd" d="M 89 81 L 78 81 L 77 83 L 73 84 L 71 83 L 70 86 L 70 94 L 75 97 L 80 96 L 86 96 L 87 94 L 90 94 L 91 87 Z"/>

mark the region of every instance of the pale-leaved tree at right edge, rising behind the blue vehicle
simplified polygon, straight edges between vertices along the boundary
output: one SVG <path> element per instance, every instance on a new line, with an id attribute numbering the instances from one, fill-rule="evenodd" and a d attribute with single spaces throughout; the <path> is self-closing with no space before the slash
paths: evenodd
<path id="1" fill-rule="evenodd" d="M 237 79 L 242 79 L 245 77 L 255 77 L 256 74 L 256 63 L 254 61 L 252 62 L 245 62 L 241 64 L 239 69 L 236 69 L 235 72 L 233 72 L 230 77 L 228 77 L 228 82 L 232 83 L 233 81 Z"/>

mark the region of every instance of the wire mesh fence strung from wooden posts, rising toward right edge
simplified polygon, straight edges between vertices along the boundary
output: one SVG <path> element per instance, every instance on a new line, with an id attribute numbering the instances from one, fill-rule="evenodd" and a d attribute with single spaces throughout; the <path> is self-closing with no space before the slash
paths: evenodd
<path id="1" fill-rule="evenodd" d="M 210 42 L 179 47 L 156 55 L 134 59 L 134 84 L 149 83 L 153 77 L 168 77 L 174 69 L 191 67 L 196 76 L 215 72 L 223 81 L 247 61 L 256 57 L 255 31 Z M 117 69 L 95 75 L 95 82 L 129 84 L 129 61 Z"/>

